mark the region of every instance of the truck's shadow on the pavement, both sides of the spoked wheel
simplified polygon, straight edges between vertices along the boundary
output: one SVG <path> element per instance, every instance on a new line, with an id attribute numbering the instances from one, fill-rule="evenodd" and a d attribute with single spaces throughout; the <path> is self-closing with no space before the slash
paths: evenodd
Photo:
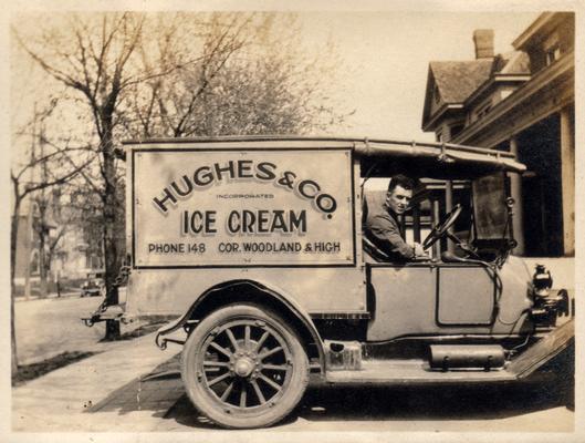
<path id="1" fill-rule="evenodd" d="M 185 394 L 178 357 L 150 375 L 113 392 L 88 412 L 152 411 L 153 416 L 177 424 L 213 429 L 199 416 Z M 153 377 L 154 375 L 154 377 Z M 296 420 L 331 421 L 433 421 L 501 420 L 571 403 L 573 391 L 560 392 L 547 384 L 524 383 L 482 387 L 318 387 L 307 389 L 296 410 L 279 426 Z"/>

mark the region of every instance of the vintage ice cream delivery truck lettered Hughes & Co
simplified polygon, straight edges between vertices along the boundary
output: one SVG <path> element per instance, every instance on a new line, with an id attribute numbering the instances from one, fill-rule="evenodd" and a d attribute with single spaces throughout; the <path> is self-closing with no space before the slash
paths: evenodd
<path id="1" fill-rule="evenodd" d="M 125 150 L 122 320 L 174 318 L 157 344 L 184 344 L 185 389 L 221 426 L 280 421 L 311 374 L 511 382 L 573 346 L 567 292 L 551 289 L 544 266 L 527 269 L 511 254 L 510 179 L 525 167 L 510 153 L 314 137 L 146 140 Z M 401 223 L 410 240 L 427 234 L 429 253 L 407 262 L 389 260 L 363 230 L 386 186 L 369 184 L 398 173 L 419 182 Z"/>

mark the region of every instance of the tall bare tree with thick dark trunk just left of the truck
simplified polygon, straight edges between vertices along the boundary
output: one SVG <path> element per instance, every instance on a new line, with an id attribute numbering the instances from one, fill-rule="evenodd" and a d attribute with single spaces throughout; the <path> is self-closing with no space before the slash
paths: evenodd
<path id="1" fill-rule="evenodd" d="M 105 281 L 112 303 L 117 302 L 114 281 L 121 266 L 121 254 L 115 241 L 119 222 L 116 217 L 119 202 L 116 199 L 118 175 L 114 150 L 116 111 L 125 89 L 163 75 L 160 71 L 132 70 L 133 55 L 137 53 L 143 38 L 144 21 L 143 14 L 130 13 L 105 13 L 98 20 L 73 16 L 67 18 L 64 32 L 51 29 L 35 47 L 29 47 L 19 38 L 22 47 L 51 76 L 83 96 L 93 116 L 102 178 L 102 183 L 93 183 L 93 186 L 102 198 Z M 108 322 L 106 337 L 118 334 L 119 324 Z"/>

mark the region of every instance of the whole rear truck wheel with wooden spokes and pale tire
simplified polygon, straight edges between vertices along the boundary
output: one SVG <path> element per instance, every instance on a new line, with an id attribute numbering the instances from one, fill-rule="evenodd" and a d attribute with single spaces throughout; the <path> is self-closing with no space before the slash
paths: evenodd
<path id="1" fill-rule="evenodd" d="M 224 427 L 261 427 L 282 420 L 309 382 L 309 361 L 295 332 L 276 313 L 230 305 L 205 318 L 182 351 L 187 393 Z"/>

